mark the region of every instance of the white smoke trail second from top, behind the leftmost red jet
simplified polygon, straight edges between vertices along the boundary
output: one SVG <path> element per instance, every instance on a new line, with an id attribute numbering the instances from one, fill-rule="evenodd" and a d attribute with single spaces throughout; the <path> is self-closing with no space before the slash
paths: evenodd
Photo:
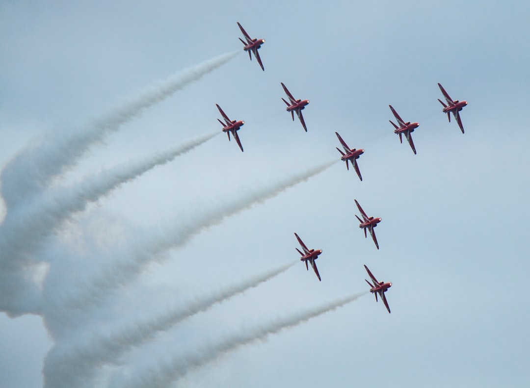
<path id="1" fill-rule="evenodd" d="M 17 272 L 24 266 L 36 262 L 34 255 L 41 250 L 46 238 L 73 213 L 84 210 L 87 204 L 108 195 L 121 184 L 134 180 L 155 166 L 171 162 L 218 134 L 220 132 L 217 131 L 203 135 L 149 156 L 143 161 L 129 162 L 102 171 L 72 188 L 45 192 L 26 206 L 15 208 L 0 225 L 0 269 L 4 277 L 16 279 Z M 12 311 L 16 295 L 27 294 L 25 288 L 29 286 L 28 281 L 19 281 L 19 287 L 16 286 L 14 281 L 0 283 L 0 311 Z M 33 293 L 32 299 L 36 296 Z M 34 301 L 30 303 L 32 308 L 36 307 L 35 304 Z M 20 311 L 16 314 L 20 314 Z"/>

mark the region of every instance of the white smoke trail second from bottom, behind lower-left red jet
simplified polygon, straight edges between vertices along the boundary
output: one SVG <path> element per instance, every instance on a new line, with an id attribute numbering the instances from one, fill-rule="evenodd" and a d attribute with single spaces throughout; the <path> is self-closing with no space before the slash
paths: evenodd
<path id="1" fill-rule="evenodd" d="M 206 311 L 215 304 L 242 294 L 246 290 L 258 287 L 260 284 L 282 274 L 296 263 L 298 260 L 254 276 L 240 284 L 226 287 L 210 296 L 198 299 L 188 306 L 173 308 L 148 321 L 128 325 L 116 333 L 92 340 L 85 339 L 83 340 L 84 347 L 68 344 L 64 351 L 55 348 L 45 361 L 43 369 L 45 388 L 90 385 L 99 367 L 105 364 L 118 363 L 120 357 L 127 351 L 152 340 L 156 333 L 167 331 L 192 315 Z"/>

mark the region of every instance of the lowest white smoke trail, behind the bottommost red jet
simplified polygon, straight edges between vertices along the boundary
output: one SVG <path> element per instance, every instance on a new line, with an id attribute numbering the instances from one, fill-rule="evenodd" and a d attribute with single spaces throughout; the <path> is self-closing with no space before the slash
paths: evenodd
<path id="1" fill-rule="evenodd" d="M 238 332 L 214 345 L 197 350 L 194 354 L 185 357 L 173 357 L 169 364 L 159 366 L 156 370 L 152 369 L 141 375 L 133 376 L 127 384 L 121 386 L 128 388 L 159 388 L 170 386 L 185 374 L 224 356 L 228 352 L 258 340 L 267 339 L 270 334 L 278 333 L 283 329 L 293 328 L 312 318 L 351 303 L 367 293 L 346 296 L 323 306 L 261 325 L 252 330 Z"/>

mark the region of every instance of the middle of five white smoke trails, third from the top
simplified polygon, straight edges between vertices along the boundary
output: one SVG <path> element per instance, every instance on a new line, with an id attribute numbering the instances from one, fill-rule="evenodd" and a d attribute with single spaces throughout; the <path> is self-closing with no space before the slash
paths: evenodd
<path id="1" fill-rule="evenodd" d="M 81 289 L 77 296 L 65 301 L 66 307 L 83 309 L 100 303 L 112 290 L 135 280 L 147 264 L 157 260 L 162 252 L 184 246 L 193 236 L 221 223 L 225 218 L 250 209 L 254 205 L 262 204 L 288 188 L 329 169 L 335 163 L 337 160 L 326 162 L 301 173 L 293 174 L 268 187 L 249 191 L 246 195 L 236 197 L 231 202 L 217 206 L 215 209 L 195 217 L 189 224 L 176 224 L 160 236 L 149 237 L 147 241 L 137 243 L 131 247 L 127 260 L 114 262 L 112 267 L 105 269 L 100 277 L 91 281 L 85 289 Z"/>

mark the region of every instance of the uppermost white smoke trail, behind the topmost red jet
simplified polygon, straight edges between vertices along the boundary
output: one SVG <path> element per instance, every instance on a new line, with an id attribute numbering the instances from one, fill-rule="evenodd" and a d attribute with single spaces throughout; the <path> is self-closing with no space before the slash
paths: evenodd
<path id="1" fill-rule="evenodd" d="M 41 191 L 50 179 L 74 165 L 90 146 L 100 143 L 105 136 L 138 117 L 147 108 L 227 63 L 239 52 L 237 50 L 183 69 L 166 80 L 147 87 L 84 129 L 48 134 L 39 143 L 23 149 L 0 174 L 2 196 L 8 210 Z"/>

